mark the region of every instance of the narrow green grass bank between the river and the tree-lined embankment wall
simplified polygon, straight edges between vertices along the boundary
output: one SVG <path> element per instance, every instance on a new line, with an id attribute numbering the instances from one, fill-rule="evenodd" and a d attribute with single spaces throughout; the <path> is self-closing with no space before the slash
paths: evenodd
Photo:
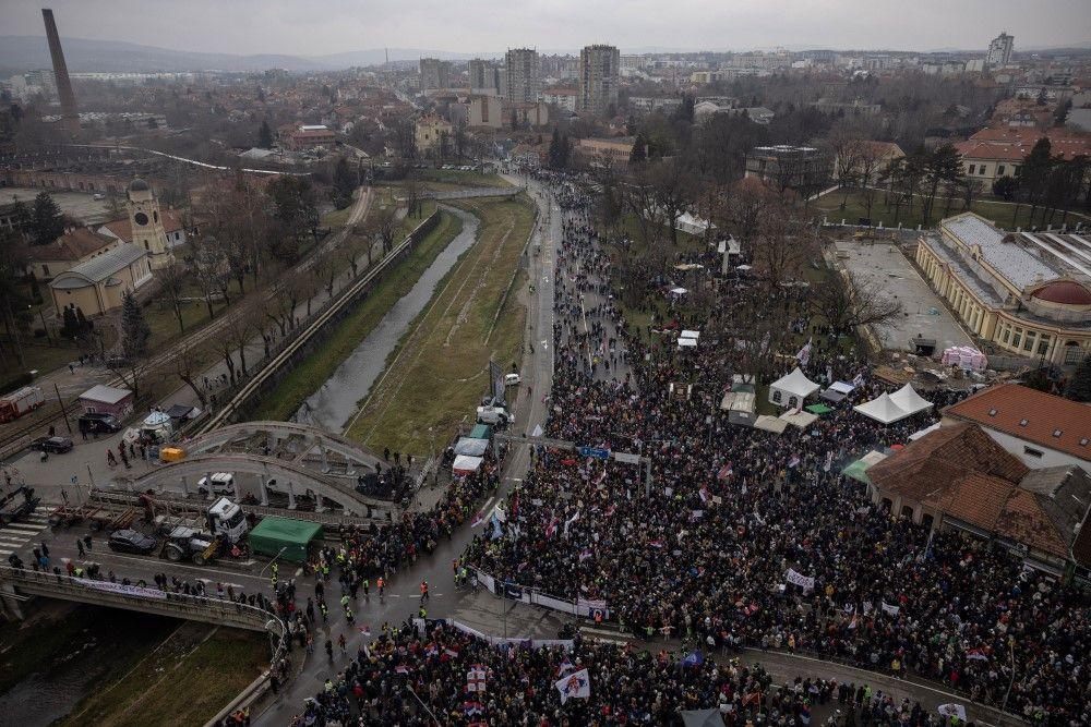
<path id="1" fill-rule="evenodd" d="M 420 222 L 413 225 L 416 227 Z M 393 270 L 371 289 L 370 294 L 345 317 L 333 334 L 303 362 L 295 366 L 253 412 L 255 420 L 285 421 L 296 413 L 303 401 L 322 383 L 329 378 L 337 366 L 360 346 L 360 341 L 379 325 L 386 312 L 409 292 L 435 257 L 461 231 L 458 217 L 441 213 L 440 223 L 409 255 L 403 257 Z"/>

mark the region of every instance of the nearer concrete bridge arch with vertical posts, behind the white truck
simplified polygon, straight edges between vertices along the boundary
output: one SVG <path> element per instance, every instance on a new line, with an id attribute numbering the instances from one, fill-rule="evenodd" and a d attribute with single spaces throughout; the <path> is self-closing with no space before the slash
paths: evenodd
<path id="1" fill-rule="evenodd" d="M 178 462 L 165 464 L 136 477 L 115 480 L 115 485 L 133 492 L 145 492 L 147 489 L 161 489 L 163 485 L 167 483 L 181 482 L 182 489 L 188 494 L 191 477 L 193 482 L 196 482 L 201 477 L 215 472 L 256 476 L 261 484 L 262 505 L 268 505 L 271 481 L 276 481 L 277 492 L 285 492 L 288 495 L 289 509 L 296 508 L 297 495 L 302 495 L 308 490 L 316 496 L 315 509 L 319 511 L 324 509 L 322 498 L 338 504 L 345 509 L 346 513 L 357 516 L 368 516 L 376 509 L 391 509 L 391 502 L 374 497 L 367 497 L 356 492 L 356 480 L 327 477 L 292 460 L 265 457 L 264 455 L 196 455 L 187 457 Z M 280 488 L 281 485 L 284 486 L 283 489 Z M 238 480 L 236 480 L 235 489 L 236 498 L 241 499 Z M 214 495 L 209 489 L 208 498 L 212 499 Z"/>

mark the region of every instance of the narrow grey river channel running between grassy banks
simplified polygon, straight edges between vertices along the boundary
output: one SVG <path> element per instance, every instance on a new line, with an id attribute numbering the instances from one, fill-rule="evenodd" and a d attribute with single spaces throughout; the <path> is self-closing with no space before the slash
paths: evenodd
<path id="1" fill-rule="evenodd" d="M 412 289 L 386 312 L 333 376 L 308 397 L 293 421 L 322 426 L 331 432 L 344 431 L 356 413 L 358 402 L 368 396 L 371 385 L 382 375 L 386 359 L 409 330 L 409 325 L 432 300 L 440 280 L 477 240 L 477 217 L 455 207 L 443 209 L 463 220 L 463 231 L 432 260 Z"/>

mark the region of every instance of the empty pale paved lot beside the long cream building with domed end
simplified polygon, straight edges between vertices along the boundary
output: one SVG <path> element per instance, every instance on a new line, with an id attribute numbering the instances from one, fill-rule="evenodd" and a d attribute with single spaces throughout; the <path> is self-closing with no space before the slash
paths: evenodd
<path id="1" fill-rule="evenodd" d="M 973 344 L 897 245 L 855 240 L 838 240 L 835 245 L 839 262 L 854 280 L 871 282 L 902 304 L 904 315 L 897 324 L 875 327 L 883 348 L 909 351 L 910 339 L 918 335 L 935 339 L 937 351 Z"/>

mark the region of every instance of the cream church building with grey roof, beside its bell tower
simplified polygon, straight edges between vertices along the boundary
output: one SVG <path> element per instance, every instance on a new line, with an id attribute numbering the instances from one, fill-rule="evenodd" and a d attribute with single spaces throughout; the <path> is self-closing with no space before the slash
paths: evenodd
<path id="1" fill-rule="evenodd" d="M 56 276 L 49 292 L 58 318 L 69 305 L 91 318 L 120 307 L 125 291 L 135 292 L 151 281 L 147 252 L 136 245 L 117 245 Z"/>

